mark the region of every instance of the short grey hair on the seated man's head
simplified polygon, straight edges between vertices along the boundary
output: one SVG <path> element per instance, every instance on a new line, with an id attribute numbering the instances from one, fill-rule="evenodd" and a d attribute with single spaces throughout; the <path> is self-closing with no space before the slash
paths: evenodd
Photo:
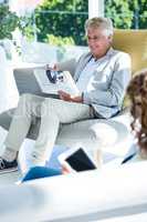
<path id="1" fill-rule="evenodd" d="M 88 19 L 85 22 L 85 32 L 87 32 L 88 28 L 102 28 L 105 36 L 113 36 L 114 33 L 113 22 L 108 18 L 94 17 L 92 19 Z"/>

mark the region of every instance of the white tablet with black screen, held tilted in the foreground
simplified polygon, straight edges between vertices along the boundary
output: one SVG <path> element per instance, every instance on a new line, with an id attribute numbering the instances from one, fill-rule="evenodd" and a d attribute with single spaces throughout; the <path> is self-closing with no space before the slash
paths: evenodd
<path id="1" fill-rule="evenodd" d="M 70 149 L 59 155 L 61 164 L 70 167 L 70 170 L 86 171 L 96 169 L 96 164 L 83 148 Z"/>

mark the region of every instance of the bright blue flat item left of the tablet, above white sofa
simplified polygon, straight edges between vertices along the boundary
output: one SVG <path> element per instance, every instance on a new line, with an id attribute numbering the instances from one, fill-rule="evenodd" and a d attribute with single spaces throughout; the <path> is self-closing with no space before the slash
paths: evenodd
<path id="1" fill-rule="evenodd" d="M 34 180 L 34 179 L 40 179 L 40 178 L 61 175 L 61 174 L 62 174 L 61 170 L 45 168 L 45 167 L 34 167 L 29 170 L 29 172 L 22 179 L 22 182 L 29 181 L 29 180 Z"/>

